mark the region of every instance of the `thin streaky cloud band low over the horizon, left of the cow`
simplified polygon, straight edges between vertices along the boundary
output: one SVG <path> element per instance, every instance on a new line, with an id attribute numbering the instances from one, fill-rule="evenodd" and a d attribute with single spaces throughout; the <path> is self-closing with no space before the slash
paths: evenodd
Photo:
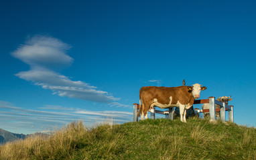
<path id="1" fill-rule="evenodd" d="M 17 128 L 24 129 L 21 133 L 34 133 L 44 129 L 64 126 L 75 120 L 87 122 L 87 125 L 99 121 L 113 119 L 115 123 L 131 121 L 133 113 L 125 111 L 89 111 L 80 108 L 67 108 L 60 105 L 46 105 L 38 109 L 15 107 L 11 103 L 0 101 L 1 128 L 15 132 Z M 49 108 L 58 111 L 49 111 Z M 34 126 L 34 127 L 31 127 Z"/>

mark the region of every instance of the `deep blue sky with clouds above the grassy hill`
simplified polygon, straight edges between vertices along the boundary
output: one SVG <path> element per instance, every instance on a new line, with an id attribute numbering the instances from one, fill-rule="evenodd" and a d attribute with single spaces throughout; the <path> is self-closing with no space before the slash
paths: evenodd
<path id="1" fill-rule="evenodd" d="M 132 121 L 139 89 L 200 83 L 256 126 L 255 1 L 3 1 L 0 128 Z M 195 107 L 200 107 L 196 105 Z M 110 121 L 110 120 L 109 120 Z"/>

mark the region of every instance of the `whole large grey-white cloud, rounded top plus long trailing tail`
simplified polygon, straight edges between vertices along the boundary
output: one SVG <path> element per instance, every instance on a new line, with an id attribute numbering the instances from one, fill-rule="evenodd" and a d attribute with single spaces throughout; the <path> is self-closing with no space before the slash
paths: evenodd
<path id="1" fill-rule="evenodd" d="M 31 69 L 15 75 L 44 89 L 50 89 L 54 94 L 62 97 L 101 103 L 119 100 L 107 91 L 98 90 L 97 87 L 83 81 L 72 81 L 69 77 L 54 71 L 56 67 L 70 65 L 74 61 L 67 55 L 68 49 L 70 45 L 53 37 L 42 35 L 31 37 L 11 53 L 13 57 L 27 63 Z"/>

